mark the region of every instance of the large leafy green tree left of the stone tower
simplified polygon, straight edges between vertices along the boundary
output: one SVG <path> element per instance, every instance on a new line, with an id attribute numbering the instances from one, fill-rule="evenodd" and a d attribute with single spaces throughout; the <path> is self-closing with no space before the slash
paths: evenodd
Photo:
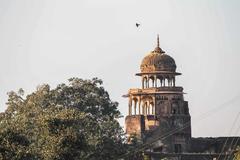
<path id="1" fill-rule="evenodd" d="M 0 114 L 1 159 L 112 160 L 127 150 L 118 104 L 97 78 L 8 95 Z"/>

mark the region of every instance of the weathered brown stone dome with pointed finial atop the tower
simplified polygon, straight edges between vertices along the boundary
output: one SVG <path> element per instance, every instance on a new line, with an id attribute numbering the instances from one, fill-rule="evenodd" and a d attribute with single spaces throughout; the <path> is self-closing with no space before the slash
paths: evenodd
<path id="1" fill-rule="evenodd" d="M 159 36 L 157 37 L 157 47 L 143 58 L 140 69 L 142 73 L 176 71 L 174 59 L 159 47 Z"/>

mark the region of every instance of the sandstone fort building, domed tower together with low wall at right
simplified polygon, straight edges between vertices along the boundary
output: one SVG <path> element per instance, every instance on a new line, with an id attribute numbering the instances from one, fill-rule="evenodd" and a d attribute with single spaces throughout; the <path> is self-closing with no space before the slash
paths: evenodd
<path id="1" fill-rule="evenodd" d="M 142 60 L 141 88 L 129 89 L 126 133 L 145 144 L 145 155 L 157 160 L 227 160 L 240 137 L 193 138 L 188 102 L 183 87 L 176 85 L 175 60 L 157 46 Z"/>

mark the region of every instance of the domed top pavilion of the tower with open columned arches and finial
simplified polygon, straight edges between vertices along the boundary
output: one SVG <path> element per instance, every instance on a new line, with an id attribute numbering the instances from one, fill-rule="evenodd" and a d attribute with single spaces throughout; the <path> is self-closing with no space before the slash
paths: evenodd
<path id="1" fill-rule="evenodd" d="M 140 66 L 141 73 L 136 75 L 142 77 L 143 89 L 165 86 L 175 87 L 175 76 L 181 75 L 181 73 L 176 72 L 176 68 L 175 60 L 160 48 L 158 37 L 157 47 L 143 58 Z"/>

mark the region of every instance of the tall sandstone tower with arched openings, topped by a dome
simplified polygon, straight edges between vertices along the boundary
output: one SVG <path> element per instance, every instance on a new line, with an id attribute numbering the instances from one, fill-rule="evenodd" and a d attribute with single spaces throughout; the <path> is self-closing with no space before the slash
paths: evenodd
<path id="1" fill-rule="evenodd" d="M 153 149 L 162 152 L 187 151 L 191 140 L 191 117 L 181 86 L 176 86 L 176 64 L 159 45 L 142 60 L 142 87 L 130 89 L 127 135 L 135 134 Z"/>

